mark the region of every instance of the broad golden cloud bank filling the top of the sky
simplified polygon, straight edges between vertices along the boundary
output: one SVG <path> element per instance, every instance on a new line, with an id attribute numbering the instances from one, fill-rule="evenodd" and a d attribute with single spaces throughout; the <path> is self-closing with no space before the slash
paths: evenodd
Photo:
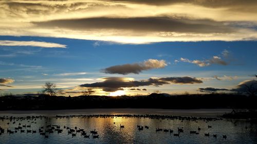
<path id="1" fill-rule="evenodd" d="M 239 0 L 0 1 L 0 35 L 126 44 L 256 40 L 255 5 Z"/>

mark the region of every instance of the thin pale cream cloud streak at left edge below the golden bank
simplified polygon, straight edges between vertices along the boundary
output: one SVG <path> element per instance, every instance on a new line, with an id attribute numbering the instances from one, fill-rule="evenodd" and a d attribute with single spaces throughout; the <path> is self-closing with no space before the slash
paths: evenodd
<path id="1" fill-rule="evenodd" d="M 66 48 L 66 45 L 47 42 L 35 41 L 13 41 L 13 40 L 0 40 L 0 46 L 29 46 L 29 47 L 42 47 L 42 48 Z"/>

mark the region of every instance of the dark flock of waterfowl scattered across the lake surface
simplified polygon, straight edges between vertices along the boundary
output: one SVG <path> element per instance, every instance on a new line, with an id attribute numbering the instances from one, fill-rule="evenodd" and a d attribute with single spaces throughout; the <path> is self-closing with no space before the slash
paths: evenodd
<path id="1" fill-rule="evenodd" d="M 197 120 L 204 120 L 206 122 L 212 121 L 212 120 L 222 120 L 222 118 L 204 118 L 204 117 L 182 117 L 182 116 L 171 116 L 171 115 L 67 115 L 67 116 L 61 116 L 61 115 L 56 115 L 56 119 L 62 119 L 62 118 L 74 118 L 74 117 L 79 117 L 79 118 L 114 118 L 114 117 L 122 117 L 122 118 L 128 118 L 128 117 L 135 117 L 135 118 L 155 118 L 155 119 L 159 119 L 160 121 L 163 119 L 179 119 L 181 120 L 181 122 L 183 122 L 183 120 L 191 120 L 191 121 L 195 121 L 198 122 Z M 66 131 L 67 135 L 70 135 L 71 137 L 75 137 L 78 135 L 81 135 L 84 138 L 99 138 L 99 134 L 98 132 L 95 130 L 91 130 L 91 131 L 86 131 L 84 128 L 78 128 L 78 127 L 74 127 L 74 128 L 70 128 L 67 127 L 65 125 L 60 126 L 60 125 L 52 125 L 52 124 L 48 124 L 48 122 L 46 122 L 45 126 L 39 127 L 38 129 L 34 130 L 31 129 L 31 125 L 36 124 L 36 120 L 37 119 L 48 119 L 49 117 L 47 116 L 27 116 L 27 117 L 13 117 L 13 116 L 3 116 L 0 117 L 0 120 L 4 120 L 7 119 L 9 120 L 9 122 L 7 123 L 7 125 L 13 125 L 12 128 L 14 129 L 7 129 L 5 130 L 4 128 L 2 128 L 0 126 L 0 136 L 4 133 L 8 133 L 8 134 L 14 134 L 14 133 L 38 133 L 41 136 L 43 136 L 44 138 L 49 138 L 49 135 L 51 135 L 51 133 L 64 133 L 64 130 Z M 19 123 L 18 123 L 19 122 Z M 121 125 L 121 124 L 116 124 L 114 122 L 114 125 L 119 125 L 120 130 L 124 129 L 125 126 Z M 33 127 L 34 128 L 34 127 Z M 208 129 L 211 129 L 212 126 L 208 125 Z M 150 129 L 149 126 L 140 126 L 137 125 L 137 129 L 138 131 L 143 131 Z M 163 132 L 163 133 L 170 133 L 171 135 L 175 136 L 175 137 L 180 137 L 180 133 L 184 133 L 184 129 L 183 128 L 177 128 L 177 130 L 171 130 L 171 129 L 162 129 L 162 128 L 155 128 L 156 129 L 156 133 L 159 132 Z M 197 130 L 192 130 L 189 131 L 190 134 L 195 134 L 195 135 L 199 135 L 200 134 L 200 126 L 198 126 Z M 209 137 L 210 133 L 205 133 L 204 136 Z M 217 138 L 217 134 L 213 134 L 214 138 Z M 223 138 L 227 138 L 227 135 L 222 135 Z"/>

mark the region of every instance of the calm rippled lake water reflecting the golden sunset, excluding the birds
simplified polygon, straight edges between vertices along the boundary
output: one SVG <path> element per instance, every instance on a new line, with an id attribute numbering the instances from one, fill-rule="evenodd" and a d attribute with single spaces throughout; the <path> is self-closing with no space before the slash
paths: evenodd
<path id="1" fill-rule="evenodd" d="M 91 110 L 62 110 L 62 111 L 3 111 L 0 116 L 39 116 L 44 115 L 48 118 L 33 119 L 10 119 L 0 120 L 0 127 L 5 129 L 5 133 L 0 135 L 0 143 L 257 143 L 257 125 L 251 124 L 246 120 L 183 120 L 179 119 L 155 119 L 137 117 L 68 117 L 57 118 L 56 115 L 92 115 L 92 114 L 159 114 L 159 115 L 181 115 L 181 116 L 201 116 L 216 117 L 230 110 L 156 110 L 156 109 L 91 109 Z M 15 121 L 15 124 L 13 122 Z M 33 122 L 32 122 L 33 121 Z M 10 123 L 9 125 L 7 123 Z M 36 124 L 35 124 L 36 122 Z M 115 122 L 115 124 L 114 124 Z M 14 134 L 7 134 L 7 129 L 14 131 L 15 127 L 31 125 L 31 128 L 23 128 L 25 133 L 20 130 Z M 59 125 L 63 129 L 62 133 L 54 131 L 49 138 L 39 134 L 39 128 L 47 125 Z M 125 128 L 121 129 L 120 124 Z M 139 131 L 137 125 L 149 126 L 149 129 Z M 212 128 L 208 128 L 212 126 Z M 72 137 L 68 135 L 68 130 L 64 126 L 75 129 L 84 129 L 87 134 L 96 129 L 99 138 L 84 138 L 80 133 Z M 190 131 L 197 131 L 201 128 L 199 135 L 190 134 Z M 172 129 L 174 133 L 177 128 L 183 128 L 184 132 L 180 137 L 175 137 L 169 132 L 156 132 L 156 128 Z M 247 127 L 247 129 L 246 129 Z M 36 130 L 36 133 L 26 133 L 27 130 Z M 210 137 L 205 136 L 210 133 Z M 217 134 L 217 138 L 213 137 Z M 227 139 L 222 135 L 227 135 Z"/>

